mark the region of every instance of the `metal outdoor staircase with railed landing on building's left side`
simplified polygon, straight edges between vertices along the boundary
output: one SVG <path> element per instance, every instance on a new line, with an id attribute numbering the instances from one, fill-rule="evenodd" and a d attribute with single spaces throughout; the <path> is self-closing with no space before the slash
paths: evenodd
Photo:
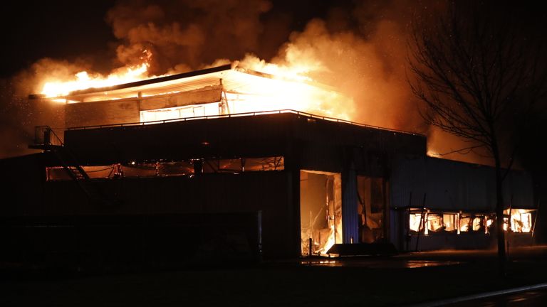
<path id="1" fill-rule="evenodd" d="M 28 146 L 31 149 L 42 149 L 51 152 L 63 166 L 68 176 L 71 177 L 78 187 L 87 195 L 90 200 L 98 201 L 105 205 L 113 204 L 113 200 L 105 198 L 103 191 L 90 181 L 88 173 L 82 168 L 75 154 L 63 144 L 63 141 L 51 129 L 50 126 L 36 126 L 34 144 Z"/>

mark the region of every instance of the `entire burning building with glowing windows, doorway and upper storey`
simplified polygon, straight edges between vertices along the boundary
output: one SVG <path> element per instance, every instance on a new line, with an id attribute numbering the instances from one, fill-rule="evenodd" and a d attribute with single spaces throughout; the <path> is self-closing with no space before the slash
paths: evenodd
<path id="1" fill-rule="evenodd" d="M 428 157 L 424 135 L 294 110 L 270 95 L 278 82 L 225 65 L 62 97 L 63 129 L 36 127 L 40 153 L 0 162 L 4 195 L 17 195 L 2 208 L 2 257 L 172 264 L 494 246 L 493 168 Z M 291 95 L 338 95 L 293 84 Z M 508 242 L 532 244 L 531 177 L 504 183 Z"/>

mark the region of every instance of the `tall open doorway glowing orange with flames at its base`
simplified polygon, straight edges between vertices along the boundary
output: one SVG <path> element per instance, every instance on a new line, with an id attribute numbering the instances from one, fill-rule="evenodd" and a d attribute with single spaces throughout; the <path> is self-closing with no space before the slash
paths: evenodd
<path id="1" fill-rule="evenodd" d="M 340 173 L 300 171 L 300 225 L 302 256 L 327 256 L 330 247 L 342 243 Z"/>

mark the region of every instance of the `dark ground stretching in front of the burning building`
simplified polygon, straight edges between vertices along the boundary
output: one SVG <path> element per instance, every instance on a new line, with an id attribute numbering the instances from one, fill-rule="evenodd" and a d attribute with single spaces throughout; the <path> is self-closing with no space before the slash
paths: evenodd
<path id="1" fill-rule="evenodd" d="M 4 264 L 0 306 L 405 306 L 547 281 L 547 247 L 67 272 Z M 465 306 L 461 305 L 461 306 Z"/>

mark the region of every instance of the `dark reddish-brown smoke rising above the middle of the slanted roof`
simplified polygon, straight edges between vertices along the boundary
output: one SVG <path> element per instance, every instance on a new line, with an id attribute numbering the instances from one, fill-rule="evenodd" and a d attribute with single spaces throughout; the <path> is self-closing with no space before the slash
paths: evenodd
<path id="1" fill-rule="evenodd" d="M 126 1 L 108 12 L 107 21 L 123 41 L 116 49 L 120 63 L 135 64 L 149 49 L 150 73 L 160 75 L 258 52 L 264 33 L 260 17 L 270 9 L 263 0 Z"/>

